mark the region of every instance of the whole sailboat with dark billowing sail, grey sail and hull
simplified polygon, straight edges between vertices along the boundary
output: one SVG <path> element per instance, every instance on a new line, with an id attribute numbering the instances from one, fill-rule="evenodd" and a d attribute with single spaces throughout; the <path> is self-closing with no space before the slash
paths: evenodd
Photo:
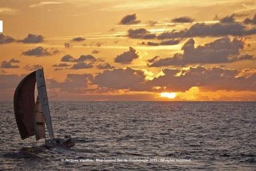
<path id="1" fill-rule="evenodd" d="M 35 85 L 38 90 L 36 102 Z M 47 148 L 72 148 L 75 146 L 70 135 L 65 135 L 64 139 L 61 139 L 56 138 L 53 134 L 43 68 L 25 76 L 16 87 L 14 113 L 22 140 L 35 135 L 36 140 L 45 139 L 44 146 Z M 49 139 L 46 138 L 45 123 L 49 132 Z"/>

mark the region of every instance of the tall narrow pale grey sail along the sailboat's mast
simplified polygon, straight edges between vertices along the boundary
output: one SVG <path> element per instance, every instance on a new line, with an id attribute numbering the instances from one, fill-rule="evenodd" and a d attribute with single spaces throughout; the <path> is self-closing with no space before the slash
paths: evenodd
<path id="1" fill-rule="evenodd" d="M 49 104 L 48 97 L 46 91 L 46 81 L 44 80 L 44 71 L 43 68 L 36 70 L 36 87 L 38 88 L 38 96 L 40 100 L 40 104 L 42 106 L 42 112 L 44 114 L 44 118 L 46 119 L 46 126 L 49 132 L 49 136 L 53 139 L 53 129 L 52 129 L 52 119 L 51 114 L 49 112 Z"/>

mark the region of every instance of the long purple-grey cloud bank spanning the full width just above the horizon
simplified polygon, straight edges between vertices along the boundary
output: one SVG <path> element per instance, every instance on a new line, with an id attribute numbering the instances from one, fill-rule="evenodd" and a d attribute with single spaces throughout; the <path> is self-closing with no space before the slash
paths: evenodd
<path id="1" fill-rule="evenodd" d="M 48 92 L 59 95 L 81 95 L 87 92 L 101 93 L 125 90 L 133 92 L 185 92 L 192 87 L 204 91 L 253 91 L 256 92 L 256 70 L 232 70 L 221 67 L 206 68 L 203 66 L 188 69 L 162 69 L 162 74 L 146 79 L 146 71 L 131 69 L 104 70 L 95 77 L 92 74 L 68 74 L 64 82 L 47 79 Z M 26 75 L 0 74 L 1 96 L 13 96 L 19 81 Z M 93 87 L 93 88 L 92 88 Z M 155 87 L 159 87 L 156 89 Z M 56 94 L 56 93 L 55 93 Z"/>

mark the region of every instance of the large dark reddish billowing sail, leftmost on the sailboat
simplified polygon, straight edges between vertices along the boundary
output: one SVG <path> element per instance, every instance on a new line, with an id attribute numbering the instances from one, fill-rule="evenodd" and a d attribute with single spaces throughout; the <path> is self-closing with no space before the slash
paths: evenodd
<path id="1" fill-rule="evenodd" d="M 14 113 L 22 139 L 35 135 L 33 110 L 35 106 L 36 71 L 31 72 L 19 83 L 14 93 Z"/>

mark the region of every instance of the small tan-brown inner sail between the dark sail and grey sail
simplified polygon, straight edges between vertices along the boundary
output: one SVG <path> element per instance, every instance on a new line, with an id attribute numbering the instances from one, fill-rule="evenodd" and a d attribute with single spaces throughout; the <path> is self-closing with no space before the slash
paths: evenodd
<path id="1" fill-rule="evenodd" d="M 42 112 L 42 106 L 39 101 L 39 96 L 36 98 L 36 104 L 33 113 L 33 123 L 35 129 L 36 140 L 46 138 L 46 129 L 44 126 L 44 115 Z"/>

